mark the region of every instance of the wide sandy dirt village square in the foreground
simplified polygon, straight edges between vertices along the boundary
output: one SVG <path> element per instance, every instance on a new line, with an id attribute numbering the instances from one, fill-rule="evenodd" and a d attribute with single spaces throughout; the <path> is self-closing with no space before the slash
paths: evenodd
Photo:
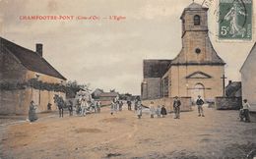
<path id="1" fill-rule="evenodd" d="M 137 119 L 126 107 L 87 117 L 41 118 L 0 126 L 0 158 L 245 158 L 256 148 L 256 119 L 239 122 L 238 111 L 205 108 L 181 119 Z"/>

